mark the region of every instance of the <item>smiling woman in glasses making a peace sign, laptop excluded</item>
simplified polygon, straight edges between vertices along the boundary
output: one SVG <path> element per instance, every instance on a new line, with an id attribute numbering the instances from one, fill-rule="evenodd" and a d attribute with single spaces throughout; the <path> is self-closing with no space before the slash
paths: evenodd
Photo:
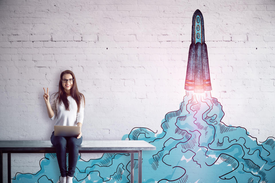
<path id="1" fill-rule="evenodd" d="M 75 167 L 78 159 L 78 146 L 82 143 L 81 126 L 84 117 L 85 98 L 78 92 L 74 73 L 65 70 L 60 74 L 58 92 L 52 95 L 51 102 L 49 89 L 44 89 L 44 100 L 47 105 L 49 118 L 56 119 L 55 125 L 80 126 L 80 134 L 77 137 L 54 136 L 52 132 L 51 142 L 56 146 L 56 157 L 61 173 L 61 183 L 72 183 Z M 68 173 L 66 166 L 66 147 L 68 147 Z"/>

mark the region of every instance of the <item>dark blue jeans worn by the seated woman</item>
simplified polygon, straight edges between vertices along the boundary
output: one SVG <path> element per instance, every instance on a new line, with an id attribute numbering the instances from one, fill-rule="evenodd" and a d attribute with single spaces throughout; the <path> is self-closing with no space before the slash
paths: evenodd
<path id="1" fill-rule="evenodd" d="M 52 132 L 51 136 L 52 145 L 56 147 L 56 158 L 59 165 L 60 173 L 62 177 L 74 176 L 74 171 L 78 159 L 78 147 L 82 143 L 81 138 L 77 139 L 76 137 L 62 137 L 62 136 L 54 136 L 54 132 Z M 68 147 L 68 174 L 67 174 L 67 165 L 66 165 L 66 147 Z"/>

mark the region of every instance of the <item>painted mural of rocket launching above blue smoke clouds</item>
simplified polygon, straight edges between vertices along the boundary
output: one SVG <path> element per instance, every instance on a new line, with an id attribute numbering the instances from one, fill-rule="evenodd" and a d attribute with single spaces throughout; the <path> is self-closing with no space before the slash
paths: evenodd
<path id="1" fill-rule="evenodd" d="M 179 110 L 165 115 L 160 134 L 148 128 L 133 128 L 122 138 L 145 140 L 156 146 L 156 151 L 142 155 L 142 182 L 275 182 L 275 138 L 258 142 L 245 128 L 221 122 L 222 106 L 210 92 L 203 16 L 199 10 L 192 19 L 185 89 Z M 137 165 L 135 157 L 135 182 Z M 12 182 L 59 182 L 56 154 L 46 153 L 40 167 L 36 174 L 17 172 Z M 80 154 L 74 175 L 73 182 L 130 182 L 130 154 L 105 153 L 89 161 L 82 160 Z"/>

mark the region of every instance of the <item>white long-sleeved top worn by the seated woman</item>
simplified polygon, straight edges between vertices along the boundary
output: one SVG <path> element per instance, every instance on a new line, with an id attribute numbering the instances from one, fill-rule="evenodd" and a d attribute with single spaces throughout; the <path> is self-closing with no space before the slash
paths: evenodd
<path id="1" fill-rule="evenodd" d="M 79 112 L 77 112 L 77 104 L 75 100 L 68 96 L 68 101 L 70 102 L 70 111 L 67 111 L 64 104 L 60 102 L 58 105 L 58 99 L 56 95 L 52 95 L 52 99 L 50 100 L 50 104 L 52 107 L 52 110 L 54 111 L 54 116 L 51 118 L 51 120 L 57 119 L 55 125 L 58 126 L 77 126 L 77 123 L 83 124 L 84 119 L 84 102 L 83 99 L 80 103 L 80 109 Z"/>

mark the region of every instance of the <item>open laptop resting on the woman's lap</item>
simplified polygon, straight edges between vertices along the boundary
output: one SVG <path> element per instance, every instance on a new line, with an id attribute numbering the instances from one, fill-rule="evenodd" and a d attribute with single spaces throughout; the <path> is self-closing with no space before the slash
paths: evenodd
<path id="1" fill-rule="evenodd" d="M 80 134 L 80 126 L 54 126 L 54 136 L 77 137 Z"/>

